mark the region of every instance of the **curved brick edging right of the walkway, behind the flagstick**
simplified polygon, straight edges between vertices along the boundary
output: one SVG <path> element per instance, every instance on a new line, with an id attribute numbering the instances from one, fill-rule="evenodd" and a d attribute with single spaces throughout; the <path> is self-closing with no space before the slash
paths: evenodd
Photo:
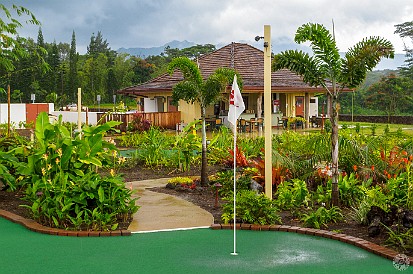
<path id="1" fill-rule="evenodd" d="M 213 230 L 219 229 L 233 229 L 233 224 L 213 224 L 210 226 Z M 305 228 L 298 226 L 289 226 L 289 225 L 254 225 L 254 224 L 237 224 L 237 229 L 240 230 L 254 230 L 254 231 L 284 231 L 284 232 L 294 232 L 299 234 L 307 234 L 318 237 L 324 237 L 328 239 L 338 240 L 340 242 L 348 243 L 357 247 L 360 247 L 364 250 L 372 252 L 376 255 L 384 257 L 389 260 L 393 260 L 399 253 L 380 246 L 378 244 L 366 241 L 361 238 L 349 236 L 342 233 L 336 233 L 333 231 L 314 229 L 314 228 Z M 413 265 L 413 257 L 409 257 L 410 265 Z"/>

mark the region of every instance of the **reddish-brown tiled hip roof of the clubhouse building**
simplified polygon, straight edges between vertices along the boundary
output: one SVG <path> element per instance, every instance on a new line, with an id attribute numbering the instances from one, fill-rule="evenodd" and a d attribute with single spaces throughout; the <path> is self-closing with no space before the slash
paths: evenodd
<path id="1" fill-rule="evenodd" d="M 234 68 L 242 77 L 243 92 L 262 92 L 264 90 L 264 52 L 243 43 L 231 43 L 210 54 L 200 56 L 198 62 L 202 76 L 206 79 L 216 69 Z M 302 77 L 287 70 L 272 72 L 272 92 L 324 92 L 322 87 L 310 87 Z M 119 90 L 120 94 L 145 95 L 146 93 L 171 91 L 182 81 L 179 71 L 173 75 L 163 74 L 146 83 Z"/>

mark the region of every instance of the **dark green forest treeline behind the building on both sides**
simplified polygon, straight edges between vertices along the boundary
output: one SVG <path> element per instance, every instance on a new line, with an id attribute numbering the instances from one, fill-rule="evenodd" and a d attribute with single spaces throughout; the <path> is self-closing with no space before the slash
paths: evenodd
<path id="1" fill-rule="evenodd" d="M 412 27 L 399 26 L 399 34 L 409 36 Z M 404 31 L 404 32 L 403 32 Z M 175 57 L 191 59 L 216 50 L 212 44 L 196 45 L 185 49 L 166 47 L 157 56 L 141 58 L 111 49 L 102 32 L 92 34 L 87 52 L 79 54 L 76 49 L 76 34 L 70 43 L 46 43 L 39 28 L 37 40 L 22 39 L 21 45 L 27 54 L 13 60 L 12 72 L 0 71 L 0 87 L 11 88 L 11 101 L 53 102 L 62 107 L 77 101 L 77 88 L 82 88 L 85 105 L 96 105 L 97 95 L 101 103 L 128 101 L 116 95 L 116 91 L 144 83 L 166 72 L 168 63 Z M 48 68 L 40 65 L 40 59 Z M 353 92 L 340 94 L 340 113 L 366 115 L 411 115 L 413 113 L 413 61 L 412 51 L 406 48 L 405 66 L 398 70 L 372 71 L 364 83 Z M 116 95 L 116 98 L 114 98 Z M 5 92 L 0 93 L 1 102 L 7 101 Z M 320 95 L 320 108 L 325 98 Z"/>

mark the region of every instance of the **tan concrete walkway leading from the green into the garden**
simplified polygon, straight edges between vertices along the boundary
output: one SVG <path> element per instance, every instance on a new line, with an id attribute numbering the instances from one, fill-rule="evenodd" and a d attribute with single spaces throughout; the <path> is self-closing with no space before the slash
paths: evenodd
<path id="1" fill-rule="evenodd" d="M 148 188 L 165 186 L 168 178 L 126 183 L 137 190 L 140 206 L 128 230 L 148 232 L 180 228 L 207 227 L 214 223 L 211 213 L 175 196 L 153 192 Z"/>

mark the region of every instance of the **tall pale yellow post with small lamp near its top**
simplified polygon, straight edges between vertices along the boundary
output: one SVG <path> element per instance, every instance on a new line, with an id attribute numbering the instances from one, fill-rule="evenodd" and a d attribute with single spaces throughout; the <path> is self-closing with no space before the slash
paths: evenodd
<path id="1" fill-rule="evenodd" d="M 272 199 L 271 26 L 264 26 L 265 195 Z"/>

